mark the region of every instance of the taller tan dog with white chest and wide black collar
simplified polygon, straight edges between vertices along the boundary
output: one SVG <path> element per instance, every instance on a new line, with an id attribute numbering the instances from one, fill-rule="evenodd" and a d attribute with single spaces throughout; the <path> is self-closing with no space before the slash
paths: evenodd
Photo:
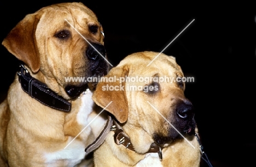
<path id="1" fill-rule="evenodd" d="M 25 65 L 0 106 L 0 166 L 82 163 L 94 140 L 88 125 L 95 103 L 88 82 L 65 78 L 106 75 L 101 32 L 85 5 L 61 3 L 26 15 L 3 40 Z"/>

